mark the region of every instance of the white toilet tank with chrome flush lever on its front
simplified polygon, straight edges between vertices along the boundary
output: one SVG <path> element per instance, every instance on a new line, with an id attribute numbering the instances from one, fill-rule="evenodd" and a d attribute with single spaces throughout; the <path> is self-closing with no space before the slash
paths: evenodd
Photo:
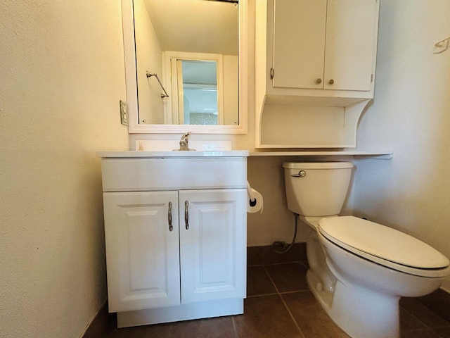
<path id="1" fill-rule="evenodd" d="M 347 196 L 352 162 L 283 163 L 288 208 L 304 216 L 338 215 Z"/>

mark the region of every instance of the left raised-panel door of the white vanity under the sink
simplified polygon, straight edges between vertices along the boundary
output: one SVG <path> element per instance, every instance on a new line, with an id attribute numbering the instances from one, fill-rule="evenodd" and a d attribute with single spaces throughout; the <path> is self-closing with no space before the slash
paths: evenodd
<path id="1" fill-rule="evenodd" d="M 109 311 L 179 304 L 178 192 L 107 192 L 103 205 Z"/>

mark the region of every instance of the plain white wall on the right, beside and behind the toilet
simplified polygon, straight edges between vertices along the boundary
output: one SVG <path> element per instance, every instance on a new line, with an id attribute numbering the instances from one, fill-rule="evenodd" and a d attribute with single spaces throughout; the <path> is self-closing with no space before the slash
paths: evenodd
<path id="1" fill-rule="evenodd" d="M 358 147 L 394 158 L 356 163 L 354 213 L 450 258 L 450 50 L 433 54 L 447 37 L 450 1 L 381 1 L 375 99 Z"/>

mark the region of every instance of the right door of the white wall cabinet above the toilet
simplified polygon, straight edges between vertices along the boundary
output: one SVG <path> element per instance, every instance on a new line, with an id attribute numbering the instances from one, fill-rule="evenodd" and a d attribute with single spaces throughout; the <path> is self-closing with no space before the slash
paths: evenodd
<path id="1" fill-rule="evenodd" d="M 377 0 L 328 0 L 324 88 L 371 90 Z"/>

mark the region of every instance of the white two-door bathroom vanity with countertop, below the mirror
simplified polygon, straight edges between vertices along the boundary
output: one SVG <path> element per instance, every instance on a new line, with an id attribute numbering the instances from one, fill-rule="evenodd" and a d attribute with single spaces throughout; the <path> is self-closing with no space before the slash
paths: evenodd
<path id="1" fill-rule="evenodd" d="M 243 313 L 248 151 L 97 156 L 117 326 Z"/>

